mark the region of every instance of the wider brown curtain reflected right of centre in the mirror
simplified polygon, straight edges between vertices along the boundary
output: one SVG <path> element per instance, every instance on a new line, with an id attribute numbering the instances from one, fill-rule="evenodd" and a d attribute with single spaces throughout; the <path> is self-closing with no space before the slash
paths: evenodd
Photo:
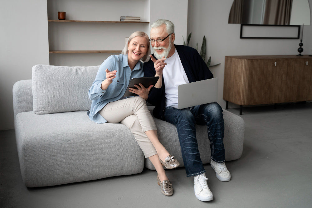
<path id="1" fill-rule="evenodd" d="M 292 0 L 266 0 L 263 24 L 289 25 Z"/>

